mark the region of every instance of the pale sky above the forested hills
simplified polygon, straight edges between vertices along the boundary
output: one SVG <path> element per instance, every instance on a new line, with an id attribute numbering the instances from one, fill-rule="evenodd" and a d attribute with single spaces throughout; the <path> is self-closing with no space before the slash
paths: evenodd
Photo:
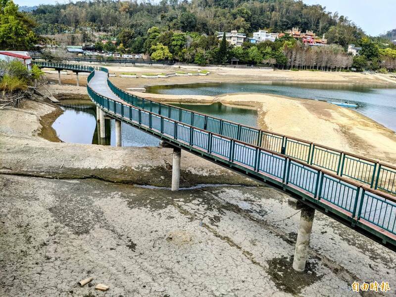
<path id="1" fill-rule="evenodd" d="M 396 29 L 396 0 L 302 0 L 306 4 L 320 4 L 327 11 L 345 15 L 369 35 L 377 36 Z M 65 3 L 65 0 L 14 0 L 21 6 Z"/>

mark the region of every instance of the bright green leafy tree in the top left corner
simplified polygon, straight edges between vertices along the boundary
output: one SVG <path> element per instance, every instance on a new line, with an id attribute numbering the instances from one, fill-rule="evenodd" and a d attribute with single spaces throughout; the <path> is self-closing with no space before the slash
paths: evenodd
<path id="1" fill-rule="evenodd" d="M 18 11 L 12 0 L 0 2 L 0 49 L 33 49 L 39 37 L 32 31 L 35 23 Z"/>

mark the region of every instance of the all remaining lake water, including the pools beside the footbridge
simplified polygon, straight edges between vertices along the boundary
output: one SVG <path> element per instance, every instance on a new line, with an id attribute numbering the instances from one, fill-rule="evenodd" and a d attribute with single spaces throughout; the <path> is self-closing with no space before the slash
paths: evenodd
<path id="1" fill-rule="evenodd" d="M 265 84 L 191 84 L 156 86 L 147 88 L 149 93 L 173 95 L 220 95 L 227 93 L 270 93 L 289 97 L 330 100 L 358 104 L 355 110 L 396 131 L 396 89 L 375 89 L 346 85 L 291 85 Z M 68 101 L 70 102 L 70 101 Z M 257 127 L 257 112 L 252 109 L 226 106 L 221 103 L 207 105 L 172 104 L 215 117 Z M 52 127 L 60 140 L 81 144 L 105 144 L 115 146 L 115 122 L 105 120 L 106 139 L 98 138 L 96 107 L 87 101 L 84 104 L 61 105 L 64 113 Z M 133 147 L 158 146 L 159 140 L 130 125 L 122 123 L 122 145 Z"/>

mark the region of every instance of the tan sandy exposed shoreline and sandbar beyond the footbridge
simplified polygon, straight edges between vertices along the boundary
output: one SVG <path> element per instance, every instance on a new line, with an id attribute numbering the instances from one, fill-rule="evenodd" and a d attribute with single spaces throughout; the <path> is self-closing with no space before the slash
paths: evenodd
<path id="1" fill-rule="evenodd" d="M 125 71 L 124 67 L 108 68 L 110 72 L 118 70 L 118 68 Z M 137 68 L 138 67 L 135 67 L 135 72 L 145 70 L 141 69 L 145 67 L 141 67 L 140 69 Z M 312 74 L 316 75 L 318 72 L 310 72 L 305 75 L 311 76 Z M 368 85 L 368 81 L 370 81 L 369 79 L 366 79 L 367 75 L 359 73 L 319 73 L 319 76 L 327 77 L 327 79 L 335 79 L 338 76 L 341 76 L 344 78 L 344 83 L 353 83 L 350 80 L 345 79 L 346 74 L 347 78 L 355 78 L 355 76 L 357 76 L 359 81 L 363 80 L 366 85 Z M 263 75 L 268 74 L 264 73 Z M 221 102 L 222 104 L 229 106 L 257 109 L 258 127 L 261 129 L 304 139 L 306 141 L 359 155 L 371 156 L 374 159 L 390 164 L 396 164 L 396 152 L 394 149 L 396 147 L 396 133 L 394 131 L 354 110 L 324 101 L 297 99 L 287 96 L 262 93 L 199 96 L 162 95 L 126 90 L 133 87 L 140 88 L 142 86 L 161 85 L 170 82 L 172 84 L 183 84 L 183 82 L 186 83 L 186 79 L 188 80 L 188 83 L 214 82 L 219 76 L 222 76 L 222 74 L 211 73 L 209 76 L 171 77 L 168 79 L 135 79 L 120 77 L 111 77 L 110 79 L 115 85 L 131 94 L 161 102 L 188 104 L 211 104 L 214 102 Z M 254 77 L 257 80 L 257 76 Z M 232 82 L 252 82 L 251 77 L 249 76 L 239 77 L 231 75 L 227 77 L 227 79 L 227 81 Z M 371 83 L 372 81 L 378 82 L 379 79 L 377 77 L 373 77 L 371 78 Z M 72 83 L 70 80 L 68 82 Z M 334 83 L 334 81 L 328 81 L 328 83 Z M 380 82 L 380 84 L 382 84 L 382 82 Z M 392 84 L 384 82 L 382 86 L 385 85 L 390 87 Z M 69 88 L 70 93 L 74 93 L 76 91 L 72 86 L 60 87 L 64 87 L 66 89 Z M 54 88 L 59 87 L 54 86 Z M 81 88 L 82 87 L 80 87 L 79 90 Z M 86 94 L 86 90 L 81 91 Z M 66 93 L 65 91 L 62 92 Z"/>

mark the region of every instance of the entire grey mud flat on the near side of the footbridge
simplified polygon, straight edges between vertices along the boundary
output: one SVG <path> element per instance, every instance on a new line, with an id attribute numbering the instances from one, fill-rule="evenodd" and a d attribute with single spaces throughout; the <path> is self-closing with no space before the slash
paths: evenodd
<path id="1" fill-rule="evenodd" d="M 278 191 L 184 152 L 182 185 L 235 185 L 134 186 L 168 187 L 171 151 L 51 143 L 38 135 L 54 107 L 22 107 L 0 111 L 0 296 L 356 296 L 354 281 L 395 293 L 395 253 L 319 212 L 296 273 L 299 213 Z"/>

